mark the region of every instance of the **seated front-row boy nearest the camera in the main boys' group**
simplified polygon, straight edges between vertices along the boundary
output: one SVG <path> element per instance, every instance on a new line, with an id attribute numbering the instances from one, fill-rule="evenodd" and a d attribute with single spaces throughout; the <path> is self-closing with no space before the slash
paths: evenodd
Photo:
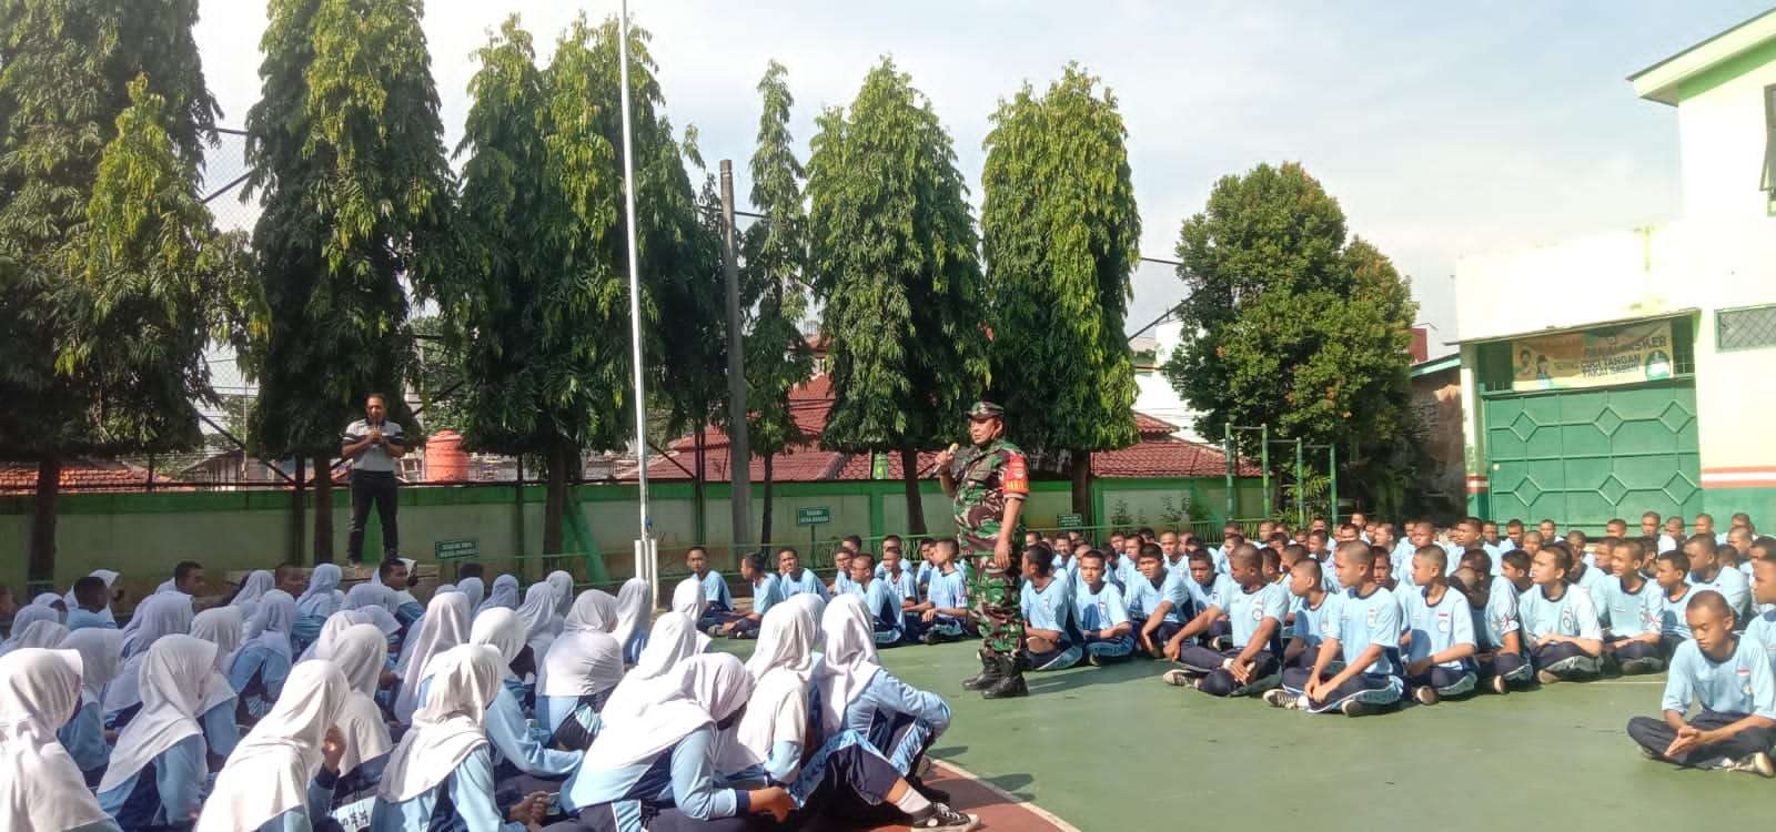
<path id="1" fill-rule="evenodd" d="M 1320 644 L 1314 667 L 1282 671 L 1282 687 L 1265 694 L 1275 708 L 1366 717 L 1399 702 L 1399 603 L 1375 584 L 1369 545 L 1352 541 L 1334 553 L 1339 584 L 1337 621 Z M 1325 678 L 1334 658 L 1344 669 Z"/>

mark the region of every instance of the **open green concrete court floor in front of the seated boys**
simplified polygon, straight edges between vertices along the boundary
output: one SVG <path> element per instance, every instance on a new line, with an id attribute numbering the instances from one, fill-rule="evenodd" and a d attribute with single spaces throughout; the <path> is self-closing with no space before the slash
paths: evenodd
<path id="1" fill-rule="evenodd" d="M 1174 688 L 1158 679 L 1163 663 L 1144 660 L 1030 674 L 1028 699 L 987 702 L 957 687 L 979 669 L 973 649 L 909 646 L 881 660 L 948 699 L 955 722 L 936 757 L 1083 832 L 1369 830 L 1412 818 L 1437 830 L 1529 818 L 1682 830 L 1776 811 L 1776 781 L 1641 757 L 1623 726 L 1657 713 L 1662 674 L 1348 718 Z"/>

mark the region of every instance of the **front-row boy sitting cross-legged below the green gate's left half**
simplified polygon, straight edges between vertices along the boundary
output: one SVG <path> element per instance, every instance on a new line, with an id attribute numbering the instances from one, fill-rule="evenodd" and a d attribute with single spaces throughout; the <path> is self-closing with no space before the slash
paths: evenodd
<path id="1" fill-rule="evenodd" d="M 1529 571 L 1536 585 L 1517 600 L 1536 681 L 1543 685 L 1595 679 L 1604 669 L 1597 607 L 1591 605 L 1591 593 L 1566 582 L 1572 564 L 1565 545 L 1536 552 Z"/>

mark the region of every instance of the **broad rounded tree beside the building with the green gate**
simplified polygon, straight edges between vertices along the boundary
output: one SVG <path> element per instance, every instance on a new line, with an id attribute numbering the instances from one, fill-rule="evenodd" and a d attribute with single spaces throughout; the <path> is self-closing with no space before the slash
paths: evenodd
<path id="1" fill-rule="evenodd" d="M 1185 339 L 1165 374 L 1202 435 L 1268 422 L 1359 467 L 1392 442 L 1417 305 L 1387 257 L 1346 239 L 1344 211 L 1300 165 L 1222 177 L 1185 220 L 1177 259 Z M 1256 435 L 1234 440 L 1257 456 Z"/>

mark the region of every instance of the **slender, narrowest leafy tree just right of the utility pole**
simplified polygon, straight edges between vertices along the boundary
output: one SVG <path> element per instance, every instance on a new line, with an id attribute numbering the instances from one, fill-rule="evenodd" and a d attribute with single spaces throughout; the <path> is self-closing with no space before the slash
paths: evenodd
<path id="1" fill-rule="evenodd" d="M 765 493 L 758 539 L 771 539 L 773 461 L 806 440 L 790 413 L 789 394 L 813 374 L 813 349 L 801 334 L 808 314 L 808 213 L 803 209 L 803 172 L 789 133 L 796 99 L 789 75 L 776 60 L 758 82 L 758 149 L 753 153 L 753 208 L 764 215 L 746 229 L 746 270 L 741 307 L 746 310 L 746 431 L 751 451 L 764 458 Z"/>

